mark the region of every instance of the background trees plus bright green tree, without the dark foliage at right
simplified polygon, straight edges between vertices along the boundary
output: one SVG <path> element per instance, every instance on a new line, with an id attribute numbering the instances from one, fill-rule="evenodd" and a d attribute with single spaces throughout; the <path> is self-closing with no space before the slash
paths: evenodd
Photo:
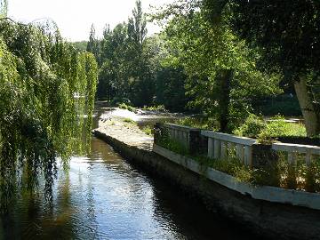
<path id="1" fill-rule="evenodd" d="M 200 109 L 231 132 L 252 111 L 252 100 L 280 92 L 275 73 L 256 68 L 260 52 L 233 32 L 225 16 L 216 25 L 200 2 L 180 1 L 154 16 L 168 18 L 164 31 L 147 37 L 137 1 L 128 23 L 92 27 L 87 50 L 100 63 L 98 97 L 136 107 L 163 104 L 171 110 Z"/>

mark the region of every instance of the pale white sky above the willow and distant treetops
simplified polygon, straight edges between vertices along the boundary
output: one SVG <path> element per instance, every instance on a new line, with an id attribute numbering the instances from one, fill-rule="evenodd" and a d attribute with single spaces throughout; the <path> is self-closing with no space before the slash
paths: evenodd
<path id="1" fill-rule="evenodd" d="M 89 38 L 92 23 L 97 36 L 102 36 L 103 28 L 109 24 L 114 28 L 117 23 L 127 21 L 132 15 L 135 0 L 9 0 L 8 16 L 25 23 L 34 20 L 54 20 L 61 35 L 68 41 L 83 41 Z M 144 12 L 149 5 L 160 6 L 172 0 L 141 0 Z M 151 35 L 160 28 L 148 24 Z"/>

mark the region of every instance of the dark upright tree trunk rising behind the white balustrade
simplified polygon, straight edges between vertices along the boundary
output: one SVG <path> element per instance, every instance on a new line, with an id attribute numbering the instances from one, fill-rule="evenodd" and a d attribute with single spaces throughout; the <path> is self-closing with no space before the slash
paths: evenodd
<path id="1" fill-rule="evenodd" d="M 228 132 L 230 104 L 231 80 L 233 77 L 233 70 L 226 69 L 221 72 L 220 77 L 220 132 Z"/>

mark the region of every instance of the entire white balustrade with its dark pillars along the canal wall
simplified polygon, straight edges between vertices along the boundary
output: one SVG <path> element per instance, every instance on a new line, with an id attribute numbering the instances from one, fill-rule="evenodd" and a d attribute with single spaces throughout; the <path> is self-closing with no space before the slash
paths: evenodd
<path id="1" fill-rule="evenodd" d="M 172 140 L 180 142 L 188 148 L 191 154 L 199 153 L 199 149 L 204 149 L 202 154 L 207 154 L 209 158 L 228 160 L 230 157 L 236 157 L 247 166 L 260 165 L 257 156 L 265 159 L 262 161 L 268 163 L 272 158 L 276 161 L 276 152 L 284 152 L 288 157 L 289 164 L 296 164 L 298 156 L 303 156 L 306 164 L 310 164 L 314 156 L 320 156 L 320 147 L 311 145 L 299 145 L 276 142 L 270 145 L 259 144 L 257 140 L 237 137 L 235 135 L 204 131 L 188 126 L 177 124 L 156 124 L 156 129 L 162 129 Z M 165 131 L 164 131 L 165 130 Z M 155 134 L 156 141 L 156 134 Z M 207 146 L 206 146 L 207 145 Z M 268 147 L 262 151 L 260 147 Z M 206 148 L 207 147 L 207 148 Z M 272 153 L 272 154 L 269 154 Z M 252 159 L 253 156 L 257 159 Z"/>

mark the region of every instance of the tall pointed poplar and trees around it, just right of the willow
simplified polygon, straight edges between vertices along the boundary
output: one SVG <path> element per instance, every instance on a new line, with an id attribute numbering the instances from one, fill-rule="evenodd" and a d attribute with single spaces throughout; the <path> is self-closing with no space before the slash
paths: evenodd
<path id="1" fill-rule="evenodd" d="M 146 25 L 141 1 L 136 1 L 128 23 L 120 23 L 114 29 L 106 27 L 103 39 L 98 41 L 99 97 L 128 100 L 140 107 L 152 104 L 156 73 Z"/>

